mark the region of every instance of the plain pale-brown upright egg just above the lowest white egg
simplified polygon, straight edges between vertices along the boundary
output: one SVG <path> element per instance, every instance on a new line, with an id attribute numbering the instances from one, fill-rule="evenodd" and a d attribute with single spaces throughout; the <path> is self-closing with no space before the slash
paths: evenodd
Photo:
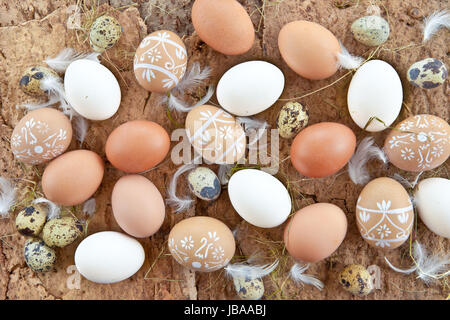
<path id="1" fill-rule="evenodd" d="M 111 205 L 119 226 L 136 238 L 147 238 L 157 232 L 166 215 L 159 190 L 137 174 L 123 176 L 116 182 Z"/>

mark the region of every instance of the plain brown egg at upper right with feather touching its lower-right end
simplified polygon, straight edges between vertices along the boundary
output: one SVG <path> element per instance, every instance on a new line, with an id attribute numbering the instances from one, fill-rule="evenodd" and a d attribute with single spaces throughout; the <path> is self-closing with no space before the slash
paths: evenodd
<path id="1" fill-rule="evenodd" d="M 287 65 L 302 77 L 320 80 L 338 70 L 338 39 L 328 29 L 310 21 L 293 21 L 281 28 L 278 48 Z"/>

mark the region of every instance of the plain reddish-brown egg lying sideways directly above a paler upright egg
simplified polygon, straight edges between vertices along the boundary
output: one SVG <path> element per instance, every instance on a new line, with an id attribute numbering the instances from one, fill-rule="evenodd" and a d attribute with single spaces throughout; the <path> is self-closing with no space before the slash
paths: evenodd
<path id="1" fill-rule="evenodd" d="M 127 173 L 149 170 L 164 160 L 170 148 L 167 131 L 153 121 L 128 121 L 106 140 L 106 157 Z"/>

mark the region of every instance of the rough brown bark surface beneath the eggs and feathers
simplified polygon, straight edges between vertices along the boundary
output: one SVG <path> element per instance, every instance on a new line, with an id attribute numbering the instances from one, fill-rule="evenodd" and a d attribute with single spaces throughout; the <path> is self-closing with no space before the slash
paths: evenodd
<path id="1" fill-rule="evenodd" d="M 437 9 L 449 7 L 445 0 L 243 0 L 240 1 L 250 13 L 256 30 L 253 48 L 244 55 L 225 56 L 213 51 L 195 34 L 190 12 L 191 0 L 140 0 L 137 2 L 111 0 L 101 1 L 95 11 L 81 8 L 83 21 L 92 15 L 107 12 L 119 19 L 124 34 L 119 43 L 102 55 L 102 63 L 116 76 L 121 86 L 122 102 L 115 116 L 106 121 L 91 122 L 88 135 L 82 148 L 93 150 L 105 160 L 106 169 L 102 185 L 94 195 L 97 212 L 89 223 L 88 234 L 104 230 L 120 231 L 111 210 L 111 191 L 117 179 L 123 175 L 107 162 L 104 144 L 109 133 L 120 124 L 134 119 L 147 119 L 160 123 L 169 133 L 184 123 L 184 114 L 174 114 L 171 121 L 166 113 L 167 106 L 161 97 L 150 94 L 137 84 L 132 58 L 140 40 L 150 32 L 168 29 L 183 38 L 188 49 L 189 65 L 198 61 L 202 66 L 212 68 L 211 84 L 217 83 L 220 76 L 231 66 L 252 59 L 263 59 L 274 63 L 285 74 L 286 86 L 282 98 L 295 97 L 331 84 L 342 77 L 346 71 L 338 71 L 333 77 L 322 81 L 308 81 L 292 72 L 282 61 L 277 36 L 280 28 L 287 22 L 306 19 L 322 24 L 330 29 L 353 54 L 367 57 L 374 48 L 356 42 L 350 32 L 351 23 L 367 14 L 370 4 L 381 8 L 381 15 L 389 21 L 391 34 L 389 40 L 377 51 L 375 58 L 390 63 L 399 73 L 404 90 L 404 106 L 397 122 L 411 114 L 429 113 L 449 119 L 449 81 L 433 90 L 412 87 L 406 81 L 406 71 L 418 60 L 434 57 L 449 64 L 449 33 L 441 30 L 426 45 L 421 45 L 421 26 L 423 17 Z M 14 126 L 23 117 L 24 110 L 17 105 L 33 101 L 19 88 L 18 82 L 25 68 L 45 65 L 43 60 L 56 55 L 65 47 L 80 52 L 90 51 L 83 31 L 67 28 L 67 19 L 73 13 L 70 5 L 76 1 L 68 0 L 0 0 L 0 168 L 2 176 L 15 179 L 19 193 L 24 197 L 30 181 L 37 182 L 40 189 L 40 176 L 44 166 L 31 167 L 18 163 L 10 152 L 9 137 Z M 90 1 L 87 1 L 90 4 Z M 69 8 L 69 9 L 68 9 Z M 299 102 L 305 104 L 310 112 L 310 124 L 322 121 L 336 121 L 352 128 L 358 141 L 368 136 L 358 128 L 347 111 L 346 94 L 351 75 L 335 85 L 312 94 Z M 204 91 L 203 91 L 204 92 Z M 201 92 L 200 92 L 201 93 Z M 196 99 L 195 94 L 186 97 Z M 215 96 L 211 103 L 217 103 Z M 270 109 L 258 114 L 272 127 L 276 127 L 276 116 L 284 104 L 278 101 Z M 372 134 L 383 145 L 388 130 Z M 280 140 L 280 159 L 289 155 L 290 141 Z M 175 142 L 172 142 L 172 147 Z M 78 149 L 75 139 L 69 150 Z M 214 170 L 217 167 L 212 166 Z M 166 195 L 166 188 L 177 166 L 167 160 L 145 174 Z M 423 177 L 441 176 L 449 178 L 449 163 L 442 165 Z M 414 174 L 400 171 L 394 167 L 383 167 L 376 161 L 370 163 L 373 178 L 393 176 L 399 173 L 409 180 Z M 392 251 L 381 251 L 368 246 L 361 238 L 355 223 L 356 199 L 362 186 L 355 186 L 343 169 L 338 174 L 324 179 L 306 179 L 290 165 L 282 162 L 277 177 L 289 183 L 295 209 L 315 202 L 331 202 L 344 210 L 348 219 L 348 233 L 339 249 L 329 258 L 312 264 L 308 274 L 321 279 L 325 288 L 322 291 L 312 286 L 301 286 L 288 279 L 288 271 L 293 261 L 283 255 L 280 240 L 284 224 L 274 229 L 260 229 L 242 221 L 233 210 L 224 188 L 220 198 L 212 203 L 196 200 L 195 205 L 181 214 L 174 214 L 167 207 L 166 219 L 162 228 L 154 236 L 141 239 L 146 252 L 146 260 L 137 274 L 126 281 L 112 285 L 99 285 L 79 279 L 74 273 L 74 252 L 81 241 L 64 249 L 57 250 L 58 261 L 54 271 L 45 274 L 32 272 L 23 258 L 25 238 L 18 235 L 14 217 L 20 210 L 11 213 L 10 219 L 0 220 L 0 299 L 236 299 L 232 281 L 223 271 L 213 273 L 190 272 L 172 259 L 167 250 L 167 236 L 173 225 L 183 218 L 194 215 L 207 215 L 220 219 L 231 230 L 236 230 L 237 258 L 248 257 L 255 252 L 267 257 L 280 258 L 276 272 L 264 279 L 265 299 L 446 299 L 449 287 L 444 281 L 425 285 L 414 274 L 403 275 L 391 270 L 384 257 L 396 266 L 410 267 L 409 241 Z M 178 193 L 188 192 L 182 179 Z M 76 209 L 76 208 L 75 208 Z M 417 225 L 414 239 L 435 253 L 449 252 L 449 241 L 431 233 L 422 222 Z M 239 261 L 239 260 L 236 260 Z M 344 291 L 337 281 L 339 271 L 347 264 L 358 263 L 366 267 L 375 265 L 380 270 L 379 288 L 364 298 L 357 298 Z M 76 286 L 78 280 L 79 287 Z"/>

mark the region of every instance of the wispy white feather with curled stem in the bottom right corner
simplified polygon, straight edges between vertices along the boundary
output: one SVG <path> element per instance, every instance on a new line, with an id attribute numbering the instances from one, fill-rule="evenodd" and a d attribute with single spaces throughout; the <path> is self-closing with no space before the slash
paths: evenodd
<path id="1" fill-rule="evenodd" d="M 396 272 L 404 274 L 416 272 L 417 278 L 421 279 L 426 284 L 450 275 L 450 253 L 444 255 L 429 255 L 427 249 L 416 241 L 414 243 L 412 255 L 415 260 L 414 266 L 409 269 L 399 269 L 394 267 L 386 257 L 384 257 L 384 260 L 386 260 L 389 267 Z"/>

